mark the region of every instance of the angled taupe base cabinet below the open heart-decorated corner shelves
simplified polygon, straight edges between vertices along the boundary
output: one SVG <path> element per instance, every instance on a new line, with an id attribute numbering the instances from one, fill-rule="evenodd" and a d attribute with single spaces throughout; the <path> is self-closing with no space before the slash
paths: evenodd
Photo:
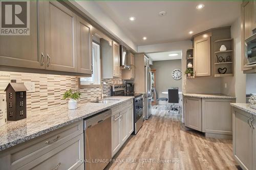
<path id="1" fill-rule="evenodd" d="M 232 138 L 232 111 L 235 99 L 208 99 L 184 96 L 185 126 L 206 137 Z"/>

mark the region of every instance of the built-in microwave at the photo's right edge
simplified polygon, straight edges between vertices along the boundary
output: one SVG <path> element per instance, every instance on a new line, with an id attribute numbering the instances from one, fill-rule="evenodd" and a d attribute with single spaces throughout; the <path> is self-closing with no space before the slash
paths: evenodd
<path id="1" fill-rule="evenodd" d="M 256 34 L 245 39 L 245 65 L 256 64 Z"/>

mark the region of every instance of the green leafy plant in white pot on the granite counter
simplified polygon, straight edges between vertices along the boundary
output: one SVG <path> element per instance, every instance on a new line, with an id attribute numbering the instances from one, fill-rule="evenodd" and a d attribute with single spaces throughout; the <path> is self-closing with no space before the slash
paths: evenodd
<path id="1" fill-rule="evenodd" d="M 69 109 L 77 109 L 77 100 L 80 99 L 81 93 L 79 91 L 74 91 L 73 89 L 69 89 L 63 94 L 62 99 L 69 99 Z"/>

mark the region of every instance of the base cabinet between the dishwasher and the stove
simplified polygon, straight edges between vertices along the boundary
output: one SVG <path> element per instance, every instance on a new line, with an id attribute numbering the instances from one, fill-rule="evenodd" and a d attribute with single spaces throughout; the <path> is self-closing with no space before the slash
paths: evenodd
<path id="1" fill-rule="evenodd" d="M 123 143 L 125 143 L 133 133 L 134 111 L 133 102 L 131 101 L 111 108 L 112 157 L 119 151 Z"/>

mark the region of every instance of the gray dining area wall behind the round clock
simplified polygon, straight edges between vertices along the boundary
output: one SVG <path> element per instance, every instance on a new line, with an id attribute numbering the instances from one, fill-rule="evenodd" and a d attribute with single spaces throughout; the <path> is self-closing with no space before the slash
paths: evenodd
<path id="1" fill-rule="evenodd" d="M 167 94 L 162 94 L 161 92 L 167 91 L 170 87 L 179 87 L 179 91 L 182 91 L 182 79 L 174 80 L 172 77 L 174 69 L 181 70 L 181 60 L 153 61 L 151 69 L 156 69 L 158 98 L 167 98 Z"/>

